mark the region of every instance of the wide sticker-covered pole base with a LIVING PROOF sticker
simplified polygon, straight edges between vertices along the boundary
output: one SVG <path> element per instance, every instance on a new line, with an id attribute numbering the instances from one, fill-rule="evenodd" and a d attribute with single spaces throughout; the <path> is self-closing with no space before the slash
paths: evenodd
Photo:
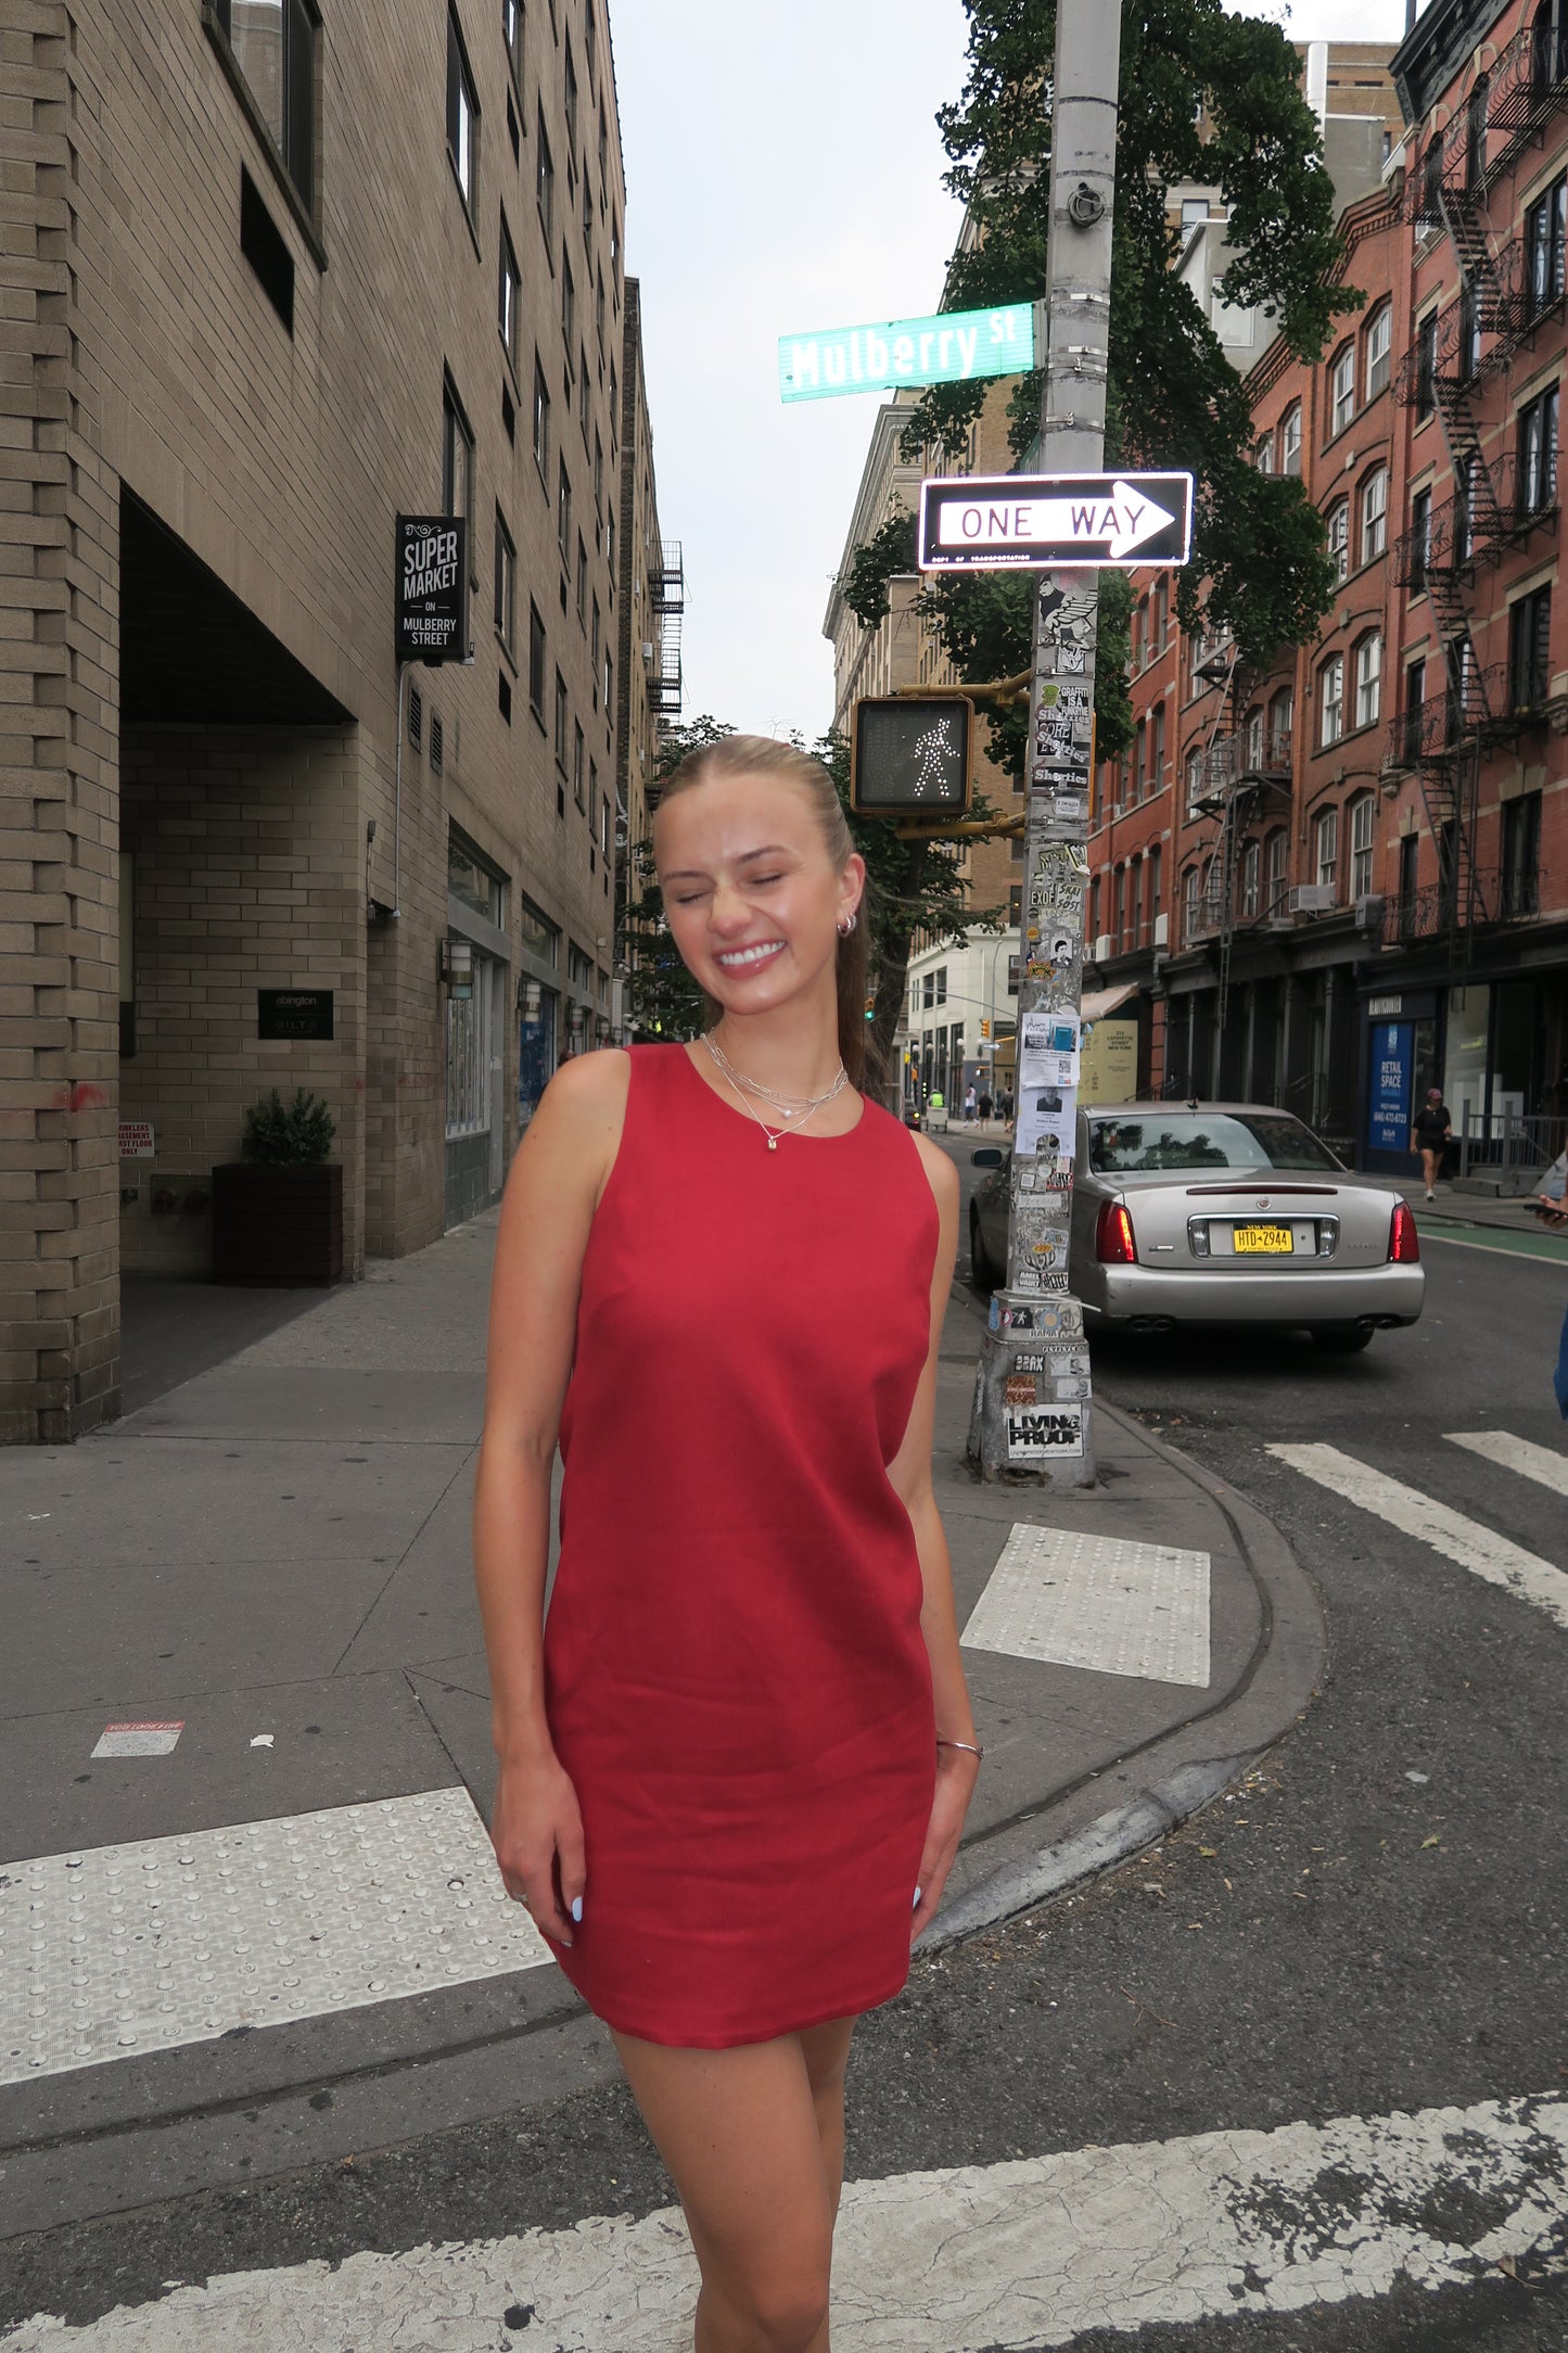
<path id="1" fill-rule="evenodd" d="M 1093 1402 L 1084 1308 L 1063 1292 L 997 1292 L 969 1414 L 980 1480 L 1093 1487 Z"/>

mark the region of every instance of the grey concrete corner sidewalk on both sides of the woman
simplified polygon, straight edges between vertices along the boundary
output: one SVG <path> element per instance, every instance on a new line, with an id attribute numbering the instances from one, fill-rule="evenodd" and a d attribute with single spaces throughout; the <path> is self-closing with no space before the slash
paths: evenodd
<path id="1" fill-rule="evenodd" d="M 7 1849 L 35 1859 L 0 1866 L 7 2231 L 614 2073 L 468 1802 L 494 1791 L 468 1539 L 494 1224 L 75 1447 L 7 1457 L 0 1779 Z M 969 1478 L 980 1313 L 954 1292 L 936 1457 L 959 1628 L 990 1612 L 966 1649 L 987 1755 L 919 1951 L 1138 1852 L 1324 1666 L 1272 1525 L 1117 1412 L 1095 1489 Z M 165 1365 L 176 1341 L 165 1322 Z M 1013 1529 L 1056 1555 L 992 1584 Z M 1180 1553 L 1206 1555 L 1206 1612 Z M 94 1758 L 118 1722 L 183 1729 Z"/>

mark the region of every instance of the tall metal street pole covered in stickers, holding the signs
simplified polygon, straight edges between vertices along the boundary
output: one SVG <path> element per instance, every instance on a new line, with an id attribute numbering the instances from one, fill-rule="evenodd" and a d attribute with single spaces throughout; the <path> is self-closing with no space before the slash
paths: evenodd
<path id="1" fill-rule="evenodd" d="M 1058 0 L 1039 473 L 1105 461 L 1121 9 Z M 1095 1478 L 1084 1308 L 1070 1292 L 1077 1056 L 1100 576 L 1041 574 L 1030 687 L 1025 892 L 1006 1287 L 992 1299 L 969 1454 L 983 1478 Z M 1025 1082 L 1025 1066 L 1039 1073 Z M 1072 1078 L 1067 1078 L 1072 1073 Z"/>

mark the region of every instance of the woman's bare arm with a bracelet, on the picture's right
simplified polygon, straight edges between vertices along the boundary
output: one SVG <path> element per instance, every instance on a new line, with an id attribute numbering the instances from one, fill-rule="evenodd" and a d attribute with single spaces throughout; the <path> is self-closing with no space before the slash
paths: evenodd
<path id="1" fill-rule="evenodd" d="M 976 1725 L 969 1706 L 969 1685 L 964 1682 L 959 1621 L 952 1602 L 952 1562 L 947 1558 L 947 1537 L 943 1532 L 943 1518 L 936 1508 L 936 1492 L 931 1487 L 936 1362 L 943 1341 L 943 1315 L 947 1313 L 947 1304 L 952 1299 L 952 1268 L 959 1249 L 959 1172 L 947 1153 L 938 1151 L 936 1144 L 926 1144 L 924 1136 L 914 1136 L 912 1141 L 926 1165 L 940 1226 L 936 1268 L 931 1273 L 931 1346 L 919 1377 L 919 1388 L 914 1391 L 910 1426 L 903 1435 L 898 1454 L 889 1464 L 889 1480 L 910 1513 L 914 1548 L 919 1553 L 919 1574 L 924 1584 L 919 1626 L 926 1638 L 926 1657 L 931 1659 L 936 1732 L 947 1741 L 973 1741 Z M 912 1939 L 919 1937 L 940 1901 L 943 1885 L 952 1871 L 952 1859 L 959 1852 L 964 1814 L 969 1812 L 978 1769 L 980 1760 L 969 1755 L 966 1748 L 938 1748 L 936 1753 L 936 1802 L 931 1807 L 931 1826 L 926 1831 L 926 1847 L 919 1866 L 919 1904 L 914 1906 L 910 1920 Z"/>

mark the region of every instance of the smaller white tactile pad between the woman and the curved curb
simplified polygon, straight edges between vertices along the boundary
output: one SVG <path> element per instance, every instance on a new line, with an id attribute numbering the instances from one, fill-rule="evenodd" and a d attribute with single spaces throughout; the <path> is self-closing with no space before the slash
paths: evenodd
<path id="1" fill-rule="evenodd" d="M 1009 1659 L 1204 1687 L 1208 1553 L 1018 1525 L 961 1640 Z"/>

